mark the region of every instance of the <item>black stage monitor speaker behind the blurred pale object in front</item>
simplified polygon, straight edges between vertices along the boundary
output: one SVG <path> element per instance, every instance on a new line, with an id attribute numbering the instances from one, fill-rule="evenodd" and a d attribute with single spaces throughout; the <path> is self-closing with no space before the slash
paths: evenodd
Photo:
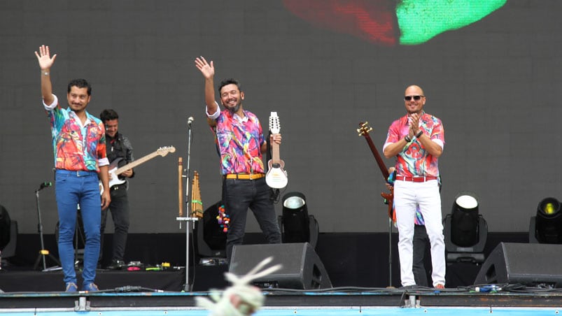
<path id="1" fill-rule="evenodd" d="M 332 282 L 328 273 L 309 243 L 279 243 L 262 245 L 235 245 L 230 259 L 229 272 L 245 275 L 260 261 L 273 257 L 268 265 L 283 267 L 253 284 L 261 288 L 328 289 Z"/>

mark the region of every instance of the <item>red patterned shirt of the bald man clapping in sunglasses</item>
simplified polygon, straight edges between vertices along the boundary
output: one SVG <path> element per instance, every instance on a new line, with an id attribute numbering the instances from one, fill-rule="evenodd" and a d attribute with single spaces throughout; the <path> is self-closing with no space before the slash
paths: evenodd
<path id="1" fill-rule="evenodd" d="M 423 112 L 419 123 L 420 129 L 423 133 L 429 136 L 431 141 L 434 141 L 443 148 L 445 136 L 441 120 L 433 115 Z M 396 143 L 407 136 L 408 129 L 408 115 L 395 120 L 388 129 L 384 148 L 386 148 L 387 145 Z M 395 168 L 398 175 L 405 175 L 407 177 L 439 176 L 437 157 L 430 155 L 426 148 L 423 148 L 421 142 L 416 138 L 407 145 L 405 150 L 402 150 L 396 156 Z"/>

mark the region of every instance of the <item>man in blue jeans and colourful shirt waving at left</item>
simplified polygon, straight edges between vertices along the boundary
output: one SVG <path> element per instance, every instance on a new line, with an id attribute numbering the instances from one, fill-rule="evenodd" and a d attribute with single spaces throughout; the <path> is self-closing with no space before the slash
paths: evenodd
<path id="1" fill-rule="evenodd" d="M 108 187 L 105 128 L 99 119 L 87 113 L 92 87 L 84 79 L 71 80 L 66 99 L 68 108 L 61 108 L 52 94 L 50 68 L 57 55 L 50 57 L 49 47 L 42 45 L 35 52 L 41 68 L 41 95 L 49 117 L 52 147 L 55 152 L 55 196 L 59 213 L 59 258 L 64 273 L 66 292 L 78 291 L 74 271 L 73 236 L 76 213 L 80 213 L 86 236 L 84 247 L 83 291 L 98 290 L 96 278 L 99 256 L 101 209 L 111 202 Z M 104 187 L 99 194 L 99 180 Z"/>

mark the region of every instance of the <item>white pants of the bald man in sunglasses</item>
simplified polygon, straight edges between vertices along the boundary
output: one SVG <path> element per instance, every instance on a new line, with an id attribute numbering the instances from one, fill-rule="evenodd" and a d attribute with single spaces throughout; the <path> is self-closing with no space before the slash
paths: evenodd
<path id="1" fill-rule="evenodd" d="M 445 243 L 441 216 L 441 196 L 437 180 L 411 182 L 397 180 L 394 183 L 394 206 L 398 224 L 398 254 L 400 256 L 400 280 L 402 286 L 415 285 L 412 271 L 414 217 L 419 205 L 426 222 L 431 245 L 433 287 L 445 284 Z"/>

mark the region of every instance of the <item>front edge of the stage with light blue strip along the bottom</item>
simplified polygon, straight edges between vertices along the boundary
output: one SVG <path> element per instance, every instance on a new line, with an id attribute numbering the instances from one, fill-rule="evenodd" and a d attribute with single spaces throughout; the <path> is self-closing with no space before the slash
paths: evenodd
<path id="1" fill-rule="evenodd" d="M 209 292 L 11 292 L 0 294 L 8 315 L 208 315 L 195 306 Z M 265 291 L 255 315 L 559 315 L 559 292 L 480 293 L 473 289 L 358 289 Z"/>

